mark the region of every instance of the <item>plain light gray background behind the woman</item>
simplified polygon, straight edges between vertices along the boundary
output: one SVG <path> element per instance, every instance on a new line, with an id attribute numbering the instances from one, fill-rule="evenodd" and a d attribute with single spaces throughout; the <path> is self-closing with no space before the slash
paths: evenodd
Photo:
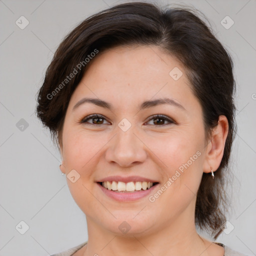
<path id="1" fill-rule="evenodd" d="M 217 241 L 256 255 L 256 1 L 159 2 L 189 3 L 202 11 L 233 57 L 238 130 L 228 219 L 234 229 Z M 0 0 L 0 255 L 48 255 L 87 240 L 85 216 L 61 175 L 58 150 L 35 117 L 35 94 L 63 36 L 88 15 L 114 3 Z M 24 29 L 15 23 L 21 15 L 29 21 Z M 234 21 L 229 29 L 220 23 L 226 15 Z M 21 118 L 28 127 L 22 126 Z M 21 220 L 29 226 L 24 234 Z"/>

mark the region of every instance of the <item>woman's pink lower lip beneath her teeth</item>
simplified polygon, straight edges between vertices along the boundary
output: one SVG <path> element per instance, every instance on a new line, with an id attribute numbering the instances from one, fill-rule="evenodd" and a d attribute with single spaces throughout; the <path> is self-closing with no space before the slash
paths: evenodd
<path id="1" fill-rule="evenodd" d="M 149 189 L 146 190 L 139 190 L 134 192 L 115 192 L 113 190 L 108 190 L 107 188 L 101 186 L 99 183 L 97 185 L 100 187 L 100 189 L 109 197 L 117 200 L 117 201 L 134 201 L 137 199 L 140 199 L 142 197 L 145 197 L 148 195 L 154 188 L 158 186 L 159 183 L 151 186 Z"/>

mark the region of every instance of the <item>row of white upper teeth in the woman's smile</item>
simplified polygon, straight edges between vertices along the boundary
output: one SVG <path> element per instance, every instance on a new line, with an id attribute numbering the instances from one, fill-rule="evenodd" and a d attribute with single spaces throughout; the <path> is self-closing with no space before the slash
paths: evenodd
<path id="1" fill-rule="evenodd" d="M 107 188 L 108 190 L 118 190 L 118 191 L 135 191 L 135 190 L 146 190 L 147 188 L 150 188 L 153 185 L 153 182 L 121 182 L 121 181 L 104 181 L 102 182 L 102 186 Z"/>

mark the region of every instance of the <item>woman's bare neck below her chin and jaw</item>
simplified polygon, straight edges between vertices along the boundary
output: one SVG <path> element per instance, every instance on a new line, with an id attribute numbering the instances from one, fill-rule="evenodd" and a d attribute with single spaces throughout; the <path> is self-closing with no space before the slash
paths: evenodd
<path id="1" fill-rule="evenodd" d="M 125 236 L 109 232 L 87 217 L 88 243 L 84 256 L 208 256 L 205 240 L 196 232 L 194 217 L 188 218 L 185 214 L 183 212 L 175 221 L 162 223 L 157 229 Z"/>

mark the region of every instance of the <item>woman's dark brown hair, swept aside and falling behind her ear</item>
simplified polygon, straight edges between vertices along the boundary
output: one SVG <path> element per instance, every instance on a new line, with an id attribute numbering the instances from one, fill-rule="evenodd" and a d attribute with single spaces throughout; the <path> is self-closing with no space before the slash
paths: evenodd
<path id="1" fill-rule="evenodd" d="M 202 106 L 207 137 L 219 115 L 225 115 L 228 120 L 228 135 L 222 160 L 214 172 L 215 179 L 211 179 L 210 173 L 203 173 L 195 205 L 195 223 L 217 238 L 227 205 L 223 173 L 227 170 L 236 130 L 235 81 L 230 55 L 193 10 L 161 9 L 151 3 L 130 2 L 83 20 L 60 43 L 46 70 L 37 96 L 37 116 L 50 129 L 54 142 L 61 143 L 67 105 L 88 66 L 85 58 L 91 59 L 92 52 L 96 54 L 114 46 L 150 44 L 182 63 Z M 67 78 L 71 73 L 72 79 Z"/>

